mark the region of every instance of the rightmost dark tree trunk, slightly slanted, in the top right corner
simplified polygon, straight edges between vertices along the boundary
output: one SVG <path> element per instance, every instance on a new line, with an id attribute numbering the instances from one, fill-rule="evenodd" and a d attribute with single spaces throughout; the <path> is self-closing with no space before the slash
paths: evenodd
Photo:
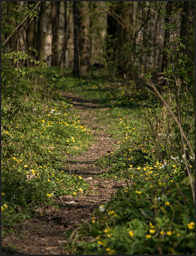
<path id="1" fill-rule="evenodd" d="M 189 15 L 189 2 L 184 2 L 183 5 L 183 14 L 181 20 L 181 31 L 180 31 L 180 38 L 181 43 L 185 45 L 185 48 L 181 48 L 181 53 L 186 53 L 186 44 L 187 44 L 187 22 L 188 22 L 188 15 Z"/>

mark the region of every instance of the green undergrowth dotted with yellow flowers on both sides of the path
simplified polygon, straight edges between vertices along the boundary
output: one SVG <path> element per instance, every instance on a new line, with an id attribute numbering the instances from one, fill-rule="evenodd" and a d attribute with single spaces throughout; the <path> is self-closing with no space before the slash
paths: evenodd
<path id="1" fill-rule="evenodd" d="M 36 102 L 32 100 L 31 109 L 25 111 L 24 105 L 18 105 L 14 120 L 10 111 L 20 96 L 10 103 L 2 90 L 2 117 L 9 116 L 2 131 L 2 234 L 12 232 L 15 222 L 31 218 L 31 209 L 41 202 L 53 204 L 55 196 L 80 196 L 89 189 L 82 177 L 70 173 L 68 156 L 88 149 L 93 141 L 91 128 L 81 124 L 72 100 L 60 93 L 63 89 L 97 104 L 97 120 L 107 127 L 111 143 L 115 141 L 113 152 L 94 163 L 102 168 L 100 177 L 127 180 L 127 187 L 93 212 L 90 223 L 73 231 L 65 251 L 194 254 L 194 206 L 183 156 L 172 157 L 158 142 L 161 160 L 146 118 L 146 112 L 156 118 L 152 109 L 161 114 L 163 106 L 156 98 L 152 105 L 145 90 L 133 85 L 62 77 L 58 72 L 52 68 L 45 74 L 34 72 L 37 84 L 45 81 L 46 88 L 31 97 L 27 93 L 24 103 L 35 96 Z M 24 113 L 30 116 L 28 122 Z M 190 166 L 194 168 L 191 159 Z"/>

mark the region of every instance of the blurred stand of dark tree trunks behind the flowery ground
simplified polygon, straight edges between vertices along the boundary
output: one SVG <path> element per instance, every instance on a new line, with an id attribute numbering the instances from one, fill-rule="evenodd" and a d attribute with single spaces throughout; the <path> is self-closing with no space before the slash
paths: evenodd
<path id="1" fill-rule="evenodd" d="M 86 74 L 94 63 L 104 65 L 110 75 L 133 80 L 141 69 L 161 72 L 168 65 L 164 48 L 170 37 L 164 22 L 175 19 L 175 36 L 186 45 L 181 48 L 183 54 L 193 48 L 194 2 L 164 2 L 162 10 L 168 17 L 163 22 L 155 15 L 161 2 L 151 3 L 153 10 L 146 9 L 144 1 L 4 1 L 2 28 L 8 22 L 10 29 L 2 30 L 2 37 L 6 41 L 11 35 L 4 51 L 20 49 L 49 66 L 72 68 L 79 75 Z M 36 5 L 37 14 L 25 19 L 24 10 Z"/>

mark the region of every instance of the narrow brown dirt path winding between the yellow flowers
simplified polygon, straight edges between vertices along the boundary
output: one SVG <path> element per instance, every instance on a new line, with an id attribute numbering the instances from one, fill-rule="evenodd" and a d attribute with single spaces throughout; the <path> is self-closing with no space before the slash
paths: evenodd
<path id="1" fill-rule="evenodd" d="M 106 134 L 104 124 L 97 122 L 96 112 L 93 110 L 95 108 L 99 110 L 98 105 L 85 102 L 71 93 L 64 93 L 64 96 L 72 98 L 81 123 L 89 127 L 94 137 L 94 144 L 87 152 L 81 156 L 68 158 L 67 171 L 86 179 L 91 190 L 79 197 L 65 195 L 54 198 L 54 203 L 59 205 L 58 209 L 53 206 L 44 206 L 44 204 L 36 209 L 37 217 L 16 224 L 17 233 L 9 233 L 2 238 L 3 255 L 72 254 L 63 249 L 63 244 L 68 240 L 68 231 L 78 227 L 77 224 L 91 221 L 92 211 L 100 204 L 110 201 L 112 193 L 116 192 L 117 188 L 127 185 L 125 181 L 116 182 L 100 178 L 99 174 L 103 170 L 94 164 L 99 157 L 103 157 L 114 149 L 111 143 L 112 138 Z M 104 116 L 107 115 L 107 110 L 107 108 L 100 109 Z M 115 144 L 115 141 L 112 142 Z"/>

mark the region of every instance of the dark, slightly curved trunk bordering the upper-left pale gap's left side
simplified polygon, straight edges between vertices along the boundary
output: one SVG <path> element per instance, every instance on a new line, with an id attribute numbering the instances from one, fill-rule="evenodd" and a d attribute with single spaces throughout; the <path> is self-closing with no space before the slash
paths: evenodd
<path id="1" fill-rule="evenodd" d="M 44 46 L 45 46 L 45 35 L 44 35 L 44 19 L 46 12 L 46 2 L 41 3 L 39 21 L 38 21 L 38 36 L 37 36 L 37 47 L 39 59 L 42 60 L 44 57 Z"/>

